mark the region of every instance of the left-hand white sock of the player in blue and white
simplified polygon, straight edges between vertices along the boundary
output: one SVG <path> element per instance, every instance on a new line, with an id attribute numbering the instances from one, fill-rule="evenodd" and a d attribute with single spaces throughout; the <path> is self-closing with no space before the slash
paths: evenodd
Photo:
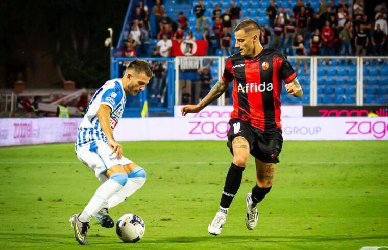
<path id="1" fill-rule="evenodd" d="M 89 222 L 90 219 L 99 212 L 103 207 L 106 207 L 108 200 L 124 187 L 118 184 L 116 181 L 108 179 L 106 182 L 95 190 L 94 196 L 90 199 L 88 205 L 86 205 L 84 211 L 78 216 L 81 222 Z"/>

